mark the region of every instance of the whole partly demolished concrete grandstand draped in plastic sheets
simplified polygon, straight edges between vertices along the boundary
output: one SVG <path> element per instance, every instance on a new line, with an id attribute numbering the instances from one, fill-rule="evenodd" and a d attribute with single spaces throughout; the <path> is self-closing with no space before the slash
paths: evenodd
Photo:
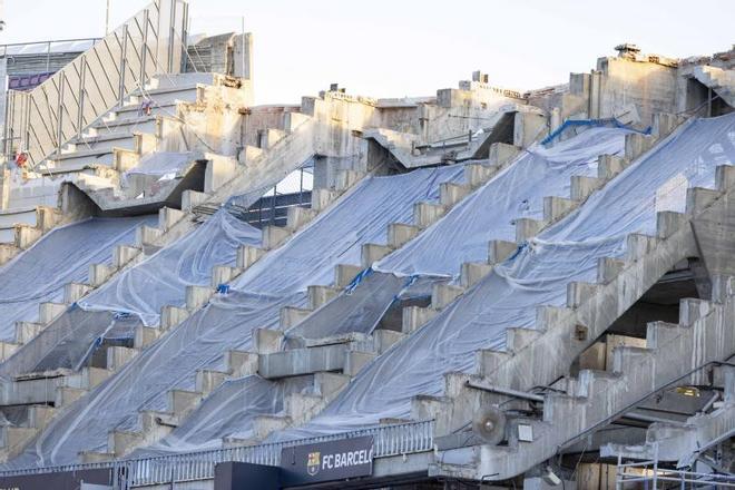
<path id="1" fill-rule="evenodd" d="M 0 488 L 735 487 L 735 48 L 255 106 L 187 16 L 6 96 Z"/>

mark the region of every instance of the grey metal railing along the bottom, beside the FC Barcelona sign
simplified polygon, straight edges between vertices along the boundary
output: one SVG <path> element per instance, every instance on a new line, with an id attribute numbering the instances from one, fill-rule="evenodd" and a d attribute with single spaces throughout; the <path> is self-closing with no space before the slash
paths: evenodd
<path id="1" fill-rule="evenodd" d="M 209 480 L 214 478 L 215 465 L 226 461 L 278 465 L 281 463 L 281 451 L 284 448 L 363 435 L 373 437 L 374 458 L 425 452 L 433 449 L 433 434 L 434 422 L 433 420 L 428 420 L 258 445 L 224 448 L 114 462 L 9 470 L 0 472 L 0 478 L 109 468 L 112 470 L 116 488 L 129 489 L 133 487 L 171 482 Z"/>

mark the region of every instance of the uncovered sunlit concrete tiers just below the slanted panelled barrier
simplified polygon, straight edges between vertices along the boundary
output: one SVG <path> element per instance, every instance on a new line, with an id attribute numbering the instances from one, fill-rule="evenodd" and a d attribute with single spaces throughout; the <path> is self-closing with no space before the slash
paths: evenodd
<path id="1" fill-rule="evenodd" d="M 122 205 L 116 203 L 120 198 L 120 174 L 138 165 L 140 157 L 150 151 L 195 148 L 187 139 L 194 139 L 193 133 L 197 128 L 185 130 L 190 124 L 182 119 L 178 111 L 184 107 L 207 108 L 223 97 L 233 104 L 239 101 L 242 97 L 237 89 L 228 87 L 231 84 L 227 77 L 213 74 L 154 77 L 146 89 L 128 96 L 120 107 L 107 112 L 85 134 L 66 144 L 33 171 L 27 173 L 29 178 L 24 183 L 11 185 L 10 173 L 3 170 L 0 205 L 6 210 L 0 212 L 0 264 L 28 248 L 53 226 L 90 212 L 86 206 L 74 206 L 68 196 L 58 195 L 62 183 L 89 194 L 102 212 L 110 206 L 130 206 L 129 202 Z M 138 116 L 144 98 L 151 110 L 173 108 L 173 112 L 168 116 Z M 205 190 L 213 192 L 234 176 L 236 166 L 217 155 L 206 157 Z M 147 184 L 149 187 L 151 183 Z M 144 190 L 134 189 L 136 196 Z M 134 199 L 136 196 L 128 197 L 139 206 L 140 200 Z M 167 197 L 157 196 L 157 202 L 164 202 Z M 156 207 L 151 210 L 155 212 Z"/>

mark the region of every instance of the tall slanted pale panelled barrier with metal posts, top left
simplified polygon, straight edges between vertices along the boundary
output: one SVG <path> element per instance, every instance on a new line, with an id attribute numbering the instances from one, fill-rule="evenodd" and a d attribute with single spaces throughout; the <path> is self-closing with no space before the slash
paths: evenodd
<path id="1" fill-rule="evenodd" d="M 10 90 L 3 154 L 22 151 L 32 168 L 153 75 L 179 72 L 187 13 L 183 0 L 154 0 L 43 84 Z"/>

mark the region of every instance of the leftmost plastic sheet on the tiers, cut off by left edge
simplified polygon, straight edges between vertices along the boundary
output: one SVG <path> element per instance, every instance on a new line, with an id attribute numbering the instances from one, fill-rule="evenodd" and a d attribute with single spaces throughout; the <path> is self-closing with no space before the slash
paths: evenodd
<path id="1" fill-rule="evenodd" d="M 0 339 L 14 339 L 14 322 L 38 320 L 43 302 L 61 302 L 63 286 L 86 282 L 89 265 L 108 263 L 112 247 L 135 242 L 136 228 L 155 216 L 90 218 L 51 231 L 0 267 Z"/>

